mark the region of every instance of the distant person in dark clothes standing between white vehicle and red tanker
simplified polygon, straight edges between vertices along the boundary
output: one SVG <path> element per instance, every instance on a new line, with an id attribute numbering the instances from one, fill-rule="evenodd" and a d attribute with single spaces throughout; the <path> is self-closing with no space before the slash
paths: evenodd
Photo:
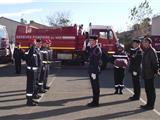
<path id="1" fill-rule="evenodd" d="M 15 63 L 15 71 L 16 74 L 21 73 L 21 60 L 23 59 L 24 53 L 23 50 L 21 49 L 21 44 L 17 43 L 17 46 L 14 48 L 14 63 Z"/>

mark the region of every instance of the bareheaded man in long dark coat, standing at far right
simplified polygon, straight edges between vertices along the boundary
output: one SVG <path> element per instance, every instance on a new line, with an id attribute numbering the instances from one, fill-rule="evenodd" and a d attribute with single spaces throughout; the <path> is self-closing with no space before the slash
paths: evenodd
<path id="1" fill-rule="evenodd" d="M 155 75 L 158 73 L 158 57 L 155 49 L 151 45 L 152 39 L 149 37 L 144 38 L 142 41 L 143 46 L 143 59 L 142 59 L 142 78 L 144 79 L 145 92 L 147 96 L 147 104 L 140 107 L 145 110 L 154 109 L 156 93 L 154 87 Z"/>

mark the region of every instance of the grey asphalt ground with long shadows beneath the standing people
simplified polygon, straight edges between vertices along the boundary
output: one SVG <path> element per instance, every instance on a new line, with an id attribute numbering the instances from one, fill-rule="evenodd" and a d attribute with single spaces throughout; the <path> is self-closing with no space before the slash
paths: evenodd
<path id="1" fill-rule="evenodd" d="M 123 95 L 114 95 L 113 69 L 100 74 L 100 106 L 87 107 L 92 91 L 86 66 L 58 63 L 51 66 L 48 84 L 50 90 L 41 94 L 39 105 L 26 106 L 25 65 L 21 75 L 16 75 L 12 64 L 0 66 L 0 120 L 160 120 L 160 78 L 155 81 L 155 109 L 144 111 L 143 80 L 141 100 L 129 101 L 132 96 L 131 76 L 126 72 Z"/>

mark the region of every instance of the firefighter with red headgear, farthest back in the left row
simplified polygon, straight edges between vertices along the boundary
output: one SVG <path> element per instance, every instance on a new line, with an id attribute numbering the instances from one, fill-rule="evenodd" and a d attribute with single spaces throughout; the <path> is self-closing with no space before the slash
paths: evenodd
<path id="1" fill-rule="evenodd" d="M 47 48 L 47 40 L 44 39 L 42 43 L 42 47 L 40 49 L 40 53 L 42 55 L 42 69 L 40 73 L 40 81 L 39 81 L 39 92 L 45 93 L 46 92 L 46 84 L 47 84 L 47 70 L 48 70 L 48 48 Z"/>

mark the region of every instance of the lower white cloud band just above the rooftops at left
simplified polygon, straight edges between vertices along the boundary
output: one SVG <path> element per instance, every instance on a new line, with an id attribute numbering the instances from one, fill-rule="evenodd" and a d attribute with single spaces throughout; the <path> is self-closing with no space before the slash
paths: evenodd
<path id="1" fill-rule="evenodd" d="M 10 13 L 0 13 L 0 16 L 4 17 L 21 17 L 23 15 L 28 15 L 32 13 L 41 12 L 42 9 L 28 9 L 20 12 L 10 12 Z"/>

